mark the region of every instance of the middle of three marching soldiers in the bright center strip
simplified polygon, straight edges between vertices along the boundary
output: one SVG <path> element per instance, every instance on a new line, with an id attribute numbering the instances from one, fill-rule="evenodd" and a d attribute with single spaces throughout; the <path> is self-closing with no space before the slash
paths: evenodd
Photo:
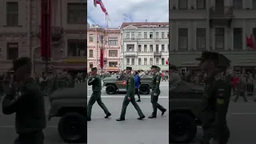
<path id="1" fill-rule="evenodd" d="M 126 96 L 123 99 L 122 102 L 122 112 L 120 115 L 120 118 L 117 119 L 117 121 L 124 121 L 126 118 L 126 108 L 131 102 L 134 105 L 134 108 L 137 110 L 139 118 L 138 120 L 142 120 L 145 118 L 145 115 L 142 113 L 142 110 L 139 108 L 138 104 L 135 101 L 135 83 L 134 83 L 134 75 L 131 74 L 131 67 L 126 67 L 126 74 L 127 74 L 127 80 L 126 80 Z"/>

